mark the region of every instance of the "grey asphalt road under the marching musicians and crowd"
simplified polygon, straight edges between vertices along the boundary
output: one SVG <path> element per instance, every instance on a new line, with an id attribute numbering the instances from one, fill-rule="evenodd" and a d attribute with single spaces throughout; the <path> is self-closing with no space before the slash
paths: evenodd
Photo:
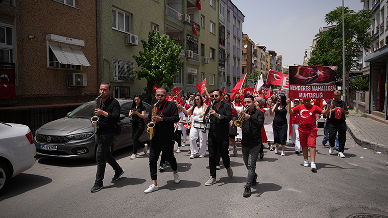
<path id="1" fill-rule="evenodd" d="M 125 173 L 111 182 L 114 172 L 108 165 L 104 188 L 98 193 L 90 193 L 94 162 L 39 157 L 0 196 L 0 217 L 388 216 L 388 155 L 358 146 L 349 133 L 346 158 L 336 152 L 329 155 L 329 146 L 320 146 L 322 128 L 318 134 L 316 172 L 303 167 L 302 154 L 295 154 L 290 144 L 285 157 L 264 149 L 250 198 L 243 197 L 248 171 L 241 147 L 236 156 L 230 151 L 234 176 L 228 177 L 222 167 L 211 186 L 205 186 L 208 156 L 189 159 L 189 147 L 182 147 L 182 153 L 175 155 L 181 182 L 175 184 L 172 169 L 167 168 L 158 173 L 160 189 L 150 194 L 143 193 L 151 184 L 149 154 L 131 160 L 132 148 L 114 153 Z"/>

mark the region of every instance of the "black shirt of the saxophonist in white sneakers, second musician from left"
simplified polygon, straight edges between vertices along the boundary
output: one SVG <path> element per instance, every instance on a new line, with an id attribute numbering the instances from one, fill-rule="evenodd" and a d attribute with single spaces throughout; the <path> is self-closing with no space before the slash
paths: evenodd
<path id="1" fill-rule="evenodd" d="M 147 124 L 152 122 L 152 109 L 148 114 Z M 160 107 L 156 105 L 156 115 L 163 118 L 163 121 L 156 122 L 154 137 L 152 140 L 174 140 L 174 123 L 179 121 L 178 108 L 174 102 L 165 101 Z"/>

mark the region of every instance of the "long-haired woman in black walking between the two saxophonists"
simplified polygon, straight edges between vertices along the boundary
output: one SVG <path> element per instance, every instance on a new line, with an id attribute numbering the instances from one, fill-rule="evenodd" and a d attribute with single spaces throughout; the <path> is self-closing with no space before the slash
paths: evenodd
<path id="1" fill-rule="evenodd" d="M 144 154 L 147 154 L 148 145 L 139 141 L 141 133 L 143 133 L 146 124 L 144 117 L 146 116 L 146 106 L 143 105 L 140 95 L 136 94 L 133 98 L 132 108 L 129 112 L 129 117 L 132 117 L 132 139 L 133 139 L 133 154 L 131 159 L 136 159 L 138 147 L 144 149 Z"/>

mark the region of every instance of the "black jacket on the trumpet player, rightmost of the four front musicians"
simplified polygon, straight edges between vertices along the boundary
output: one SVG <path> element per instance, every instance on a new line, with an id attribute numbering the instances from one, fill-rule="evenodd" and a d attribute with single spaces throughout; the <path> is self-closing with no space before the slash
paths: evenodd
<path id="1" fill-rule="evenodd" d="M 241 129 L 243 130 L 243 139 L 241 140 L 241 146 L 253 147 L 261 145 L 261 128 L 264 124 L 264 113 L 254 108 L 249 113 L 251 117 L 243 122 Z"/>

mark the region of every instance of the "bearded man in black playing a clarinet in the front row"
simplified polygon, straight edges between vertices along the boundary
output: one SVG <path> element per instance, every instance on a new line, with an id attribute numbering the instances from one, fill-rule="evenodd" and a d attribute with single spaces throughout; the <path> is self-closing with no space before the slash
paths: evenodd
<path id="1" fill-rule="evenodd" d="M 208 134 L 209 168 L 210 178 L 205 185 L 212 185 L 216 182 L 216 151 L 220 150 L 222 161 L 227 170 L 228 176 L 233 176 L 230 167 L 229 157 L 229 122 L 232 118 L 232 108 L 225 101 L 221 100 L 222 92 L 219 89 L 210 91 L 214 99 L 212 108 L 208 107 L 203 123 L 210 119 Z"/>

